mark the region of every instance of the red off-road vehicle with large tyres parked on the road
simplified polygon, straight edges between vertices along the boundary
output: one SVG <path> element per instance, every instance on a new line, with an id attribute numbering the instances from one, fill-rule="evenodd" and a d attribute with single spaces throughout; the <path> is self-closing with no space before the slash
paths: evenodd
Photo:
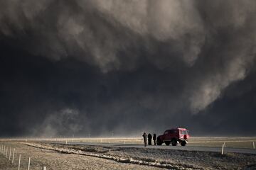
<path id="1" fill-rule="evenodd" d="M 176 146 L 179 142 L 181 146 L 186 146 L 186 144 L 188 143 L 188 139 L 188 130 L 186 130 L 185 128 L 174 128 L 166 130 L 164 132 L 164 135 L 159 135 L 156 138 L 156 144 L 162 145 L 163 143 L 165 143 L 167 146 L 169 146 L 170 144 Z"/>

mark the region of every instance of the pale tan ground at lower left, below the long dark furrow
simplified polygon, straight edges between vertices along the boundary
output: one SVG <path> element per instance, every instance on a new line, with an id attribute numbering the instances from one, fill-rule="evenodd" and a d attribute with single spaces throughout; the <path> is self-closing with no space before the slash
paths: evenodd
<path id="1" fill-rule="evenodd" d="M 8 147 L 16 149 L 14 165 L 3 154 L 0 154 L 1 170 L 17 170 L 18 154 L 21 154 L 21 170 L 28 167 L 28 157 L 31 157 L 31 168 L 33 170 L 41 170 L 43 166 L 47 170 L 70 170 L 70 169 L 159 169 L 152 166 L 144 166 L 138 164 L 124 164 L 115 162 L 111 159 L 102 159 L 98 157 L 90 157 L 80 154 L 63 154 L 48 149 L 39 149 L 30 147 L 23 143 L 11 142 L 6 144 Z"/>

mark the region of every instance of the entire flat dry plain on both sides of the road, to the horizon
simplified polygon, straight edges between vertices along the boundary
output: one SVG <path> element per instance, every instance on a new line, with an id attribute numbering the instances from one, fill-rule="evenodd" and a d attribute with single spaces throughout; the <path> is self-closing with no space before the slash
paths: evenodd
<path id="1" fill-rule="evenodd" d="M 75 142 L 93 145 L 76 145 Z M 253 149 L 256 137 L 193 137 L 188 147 Z M 23 138 L 1 139 L 1 145 L 16 148 L 14 164 L 0 153 L 0 169 L 256 169 L 256 154 L 188 151 L 143 147 L 140 137 Z M 115 145 L 110 145 L 115 144 Z M 118 147 L 137 145 L 139 147 Z M 171 147 L 171 146 L 169 146 Z M 11 154 L 12 156 L 12 154 Z"/>

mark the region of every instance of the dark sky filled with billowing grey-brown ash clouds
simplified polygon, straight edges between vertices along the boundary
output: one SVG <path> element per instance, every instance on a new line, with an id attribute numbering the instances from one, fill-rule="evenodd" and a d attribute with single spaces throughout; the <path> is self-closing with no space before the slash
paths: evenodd
<path id="1" fill-rule="evenodd" d="M 255 64 L 255 0 L 0 0 L 0 135 L 255 135 Z"/>

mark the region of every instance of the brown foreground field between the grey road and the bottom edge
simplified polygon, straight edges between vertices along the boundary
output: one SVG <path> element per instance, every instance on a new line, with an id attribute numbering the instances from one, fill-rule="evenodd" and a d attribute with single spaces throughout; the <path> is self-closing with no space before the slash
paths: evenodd
<path id="1" fill-rule="evenodd" d="M 61 145 L 45 142 L 8 142 L 16 148 L 15 164 L 0 154 L 0 169 L 256 169 L 254 154 L 224 154 L 169 149 Z"/>

